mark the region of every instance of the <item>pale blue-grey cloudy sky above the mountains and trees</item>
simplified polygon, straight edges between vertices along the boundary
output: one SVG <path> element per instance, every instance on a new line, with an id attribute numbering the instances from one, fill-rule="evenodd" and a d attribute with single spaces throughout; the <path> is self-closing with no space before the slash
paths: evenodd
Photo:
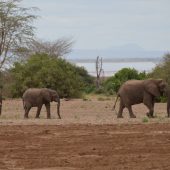
<path id="1" fill-rule="evenodd" d="M 71 38 L 75 49 L 133 45 L 170 49 L 170 0 L 23 0 L 38 7 L 36 36 Z"/>

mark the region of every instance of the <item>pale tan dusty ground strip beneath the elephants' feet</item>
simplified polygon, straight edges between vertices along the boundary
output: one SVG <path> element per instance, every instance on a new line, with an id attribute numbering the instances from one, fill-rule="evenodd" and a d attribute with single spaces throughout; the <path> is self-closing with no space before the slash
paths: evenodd
<path id="1" fill-rule="evenodd" d="M 104 100 L 104 101 L 101 101 Z M 69 101 L 61 101 L 61 117 L 57 117 L 56 103 L 51 104 L 51 117 L 52 119 L 46 119 L 46 110 L 43 106 L 40 119 L 35 119 L 37 108 L 32 108 L 29 113 L 29 119 L 24 120 L 23 104 L 20 99 L 5 100 L 3 102 L 2 115 L 0 117 L 0 124 L 120 124 L 120 123 L 141 123 L 144 119 L 147 119 L 147 108 L 143 104 L 134 105 L 133 111 L 137 116 L 136 119 L 130 119 L 128 111 L 124 110 L 124 119 L 117 119 L 116 112 L 112 111 L 114 99 L 109 100 L 107 97 L 95 97 L 88 101 L 82 99 L 74 99 Z M 117 103 L 116 111 L 118 111 L 119 103 Z M 166 103 L 155 104 L 155 116 L 154 119 L 147 119 L 149 122 L 170 122 L 170 118 L 167 118 Z"/>

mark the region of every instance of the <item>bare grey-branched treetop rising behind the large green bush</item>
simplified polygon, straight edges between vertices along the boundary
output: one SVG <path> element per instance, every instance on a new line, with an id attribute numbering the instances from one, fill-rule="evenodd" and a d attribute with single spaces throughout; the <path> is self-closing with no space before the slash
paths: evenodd
<path id="1" fill-rule="evenodd" d="M 71 52 L 73 41 L 68 38 L 60 38 L 56 41 L 32 40 L 27 44 L 27 47 L 18 49 L 18 55 L 28 59 L 36 53 L 46 53 L 51 57 L 63 57 Z"/>

